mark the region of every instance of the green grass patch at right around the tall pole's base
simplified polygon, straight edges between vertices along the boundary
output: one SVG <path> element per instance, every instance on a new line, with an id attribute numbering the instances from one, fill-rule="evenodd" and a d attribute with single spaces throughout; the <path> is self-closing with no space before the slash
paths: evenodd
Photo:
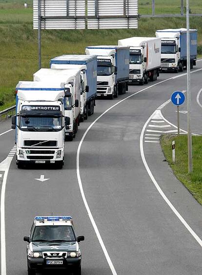
<path id="1" fill-rule="evenodd" d="M 172 141 L 175 141 L 176 163 L 172 162 Z M 163 135 L 161 146 L 176 177 L 184 184 L 195 199 L 202 204 L 202 136 L 192 137 L 193 172 L 188 173 L 187 135 Z"/>

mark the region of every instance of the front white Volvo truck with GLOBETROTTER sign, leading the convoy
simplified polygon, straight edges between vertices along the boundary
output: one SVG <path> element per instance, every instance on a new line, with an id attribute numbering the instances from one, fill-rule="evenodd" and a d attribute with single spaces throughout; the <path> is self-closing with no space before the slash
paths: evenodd
<path id="1" fill-rule="evenodd" d="M 64 163 L 64 84 L 21 81 L 16 86 L 16 164 Z"/>

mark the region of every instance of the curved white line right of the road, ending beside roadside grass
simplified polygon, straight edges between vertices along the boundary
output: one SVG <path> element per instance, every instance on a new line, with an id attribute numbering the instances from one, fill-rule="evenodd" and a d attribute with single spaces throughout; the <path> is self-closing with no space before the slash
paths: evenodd
<path id="1" fill-rule="evenodd" d="M 172 205 L 172 203 L 169 201 L 169 199 L 166 197 L 166 195 L 163 193 L 162 189 L 160 188 L 160 186 L 158 185 L 156 179 L 154 178 L 151 170 L 149 169 L 149 166 L 146 162 L 145 156 L 144 156 L 144 149 L 143 149 L 143 136 L 144 136 L 144 131 L 149 123 L 149 121 L 152 119 L 152 116 L 155 114 L 156 111 L 154 111 L 154 113 L 148 118 L 148 120 L 146 121 L 146 123 L 144 124 L 142 130 L 141 130 L 141 137 L 140 137 L 140 149 L 141 149 L 141 159 L 143 161 L 143 164 L 147 170 L 147 173 L 149 174 L 153 184 L 155 185 L 156 189 L 159 191 L 159 193 L 161 194 L 162 198 L 165 200 L 165 202 L 168 204 L 168 206 L 171 208 L 171 210 L 176 214 L 176 216 L 180 219 L 180 221 L 182 222 L 182 224 L 186 227 L 186 229 L 189 231 L 189 233 L 192 234 L 192 236 L 196 239 L 196 241 L 200 244 L 200 246 L 202 247 L 202 240 L 200 239 L 200 237 L 192 230 L 192 228 L 187 224 L 187 222 L 184 220 L 184 218 L 182 217 L 182 215 L 175 209 L 175 207 Z M 172 124 L 171 124 L 172 125 Z"/>

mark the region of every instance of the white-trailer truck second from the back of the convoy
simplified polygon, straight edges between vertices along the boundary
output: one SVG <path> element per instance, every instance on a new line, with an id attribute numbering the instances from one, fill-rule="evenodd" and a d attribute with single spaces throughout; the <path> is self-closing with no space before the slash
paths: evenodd
<path id="1" fill-rule="evenodd" d="M 156 37 L 130 37 L 119 45 L 130 47 L 129 83 L 147 84 L 155 81 L 161 67 L 161 39 Z"/>

